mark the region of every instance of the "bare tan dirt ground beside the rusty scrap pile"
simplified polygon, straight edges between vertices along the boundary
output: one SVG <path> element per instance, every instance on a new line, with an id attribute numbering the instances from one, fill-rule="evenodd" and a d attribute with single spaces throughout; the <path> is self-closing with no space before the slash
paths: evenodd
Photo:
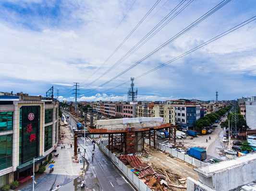
<path id="1" fill-rule="evenodd" d="M 179 179 L 186 179 L 191 177 L 194 180 L 198 180 L 198 174 L 193 170 L 194 166 L 176 158 L 170 157 L 169 154 L 158 151 L 154 148 L 145 148 L 146 152 L 136 153 L 136 156 L 140 160 L 151 167 L 157 172 L 164 174 L 163 169 L 171 175 L 171 181 L 167 181 L 171 185 L 186 187 L 186 180 L 180 181 Z M 166 187 L 167 189 L 167 187 Z M 170 187 L 169 191 L 184 191 L 184 188 Z"/>

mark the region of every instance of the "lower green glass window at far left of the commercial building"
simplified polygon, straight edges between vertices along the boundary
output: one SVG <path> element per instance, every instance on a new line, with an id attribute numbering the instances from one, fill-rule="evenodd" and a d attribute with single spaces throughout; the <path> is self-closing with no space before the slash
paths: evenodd
<path id="1" fill-rule="evenodd" d="M 12 167 L 12 134 L 0 136 L 0 170 Z"/>

